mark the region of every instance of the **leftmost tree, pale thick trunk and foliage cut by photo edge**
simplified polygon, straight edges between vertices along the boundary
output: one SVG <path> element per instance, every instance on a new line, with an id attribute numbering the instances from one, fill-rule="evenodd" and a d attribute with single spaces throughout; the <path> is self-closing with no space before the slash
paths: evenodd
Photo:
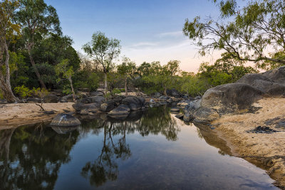
<path id="1" fill-rule="evenodd" d="M 19 7 L 19 1 L 5 0 L 0 2 L 0 88 L 4 98 L 8 102 L 16 102 L 11 90 L 9 67 L 9 43 L 15 39 L 15 33 L 19 33 L 19 25 L 14 23 L 14 13 Z"/>

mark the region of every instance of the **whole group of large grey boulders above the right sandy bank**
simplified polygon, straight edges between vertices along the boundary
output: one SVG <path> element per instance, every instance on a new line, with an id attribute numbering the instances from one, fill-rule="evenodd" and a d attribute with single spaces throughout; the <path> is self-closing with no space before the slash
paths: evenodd
<path id="1" fill-rule="evenodd" d="M 237 83 L 210 88 L 200 100 L 182 100 L 177 106 L 183 108 L 185 121 L 212 122 L 224 114 L 247 112 L 262 97 L 284 96 L 285 66 L 244 75 Z"/>

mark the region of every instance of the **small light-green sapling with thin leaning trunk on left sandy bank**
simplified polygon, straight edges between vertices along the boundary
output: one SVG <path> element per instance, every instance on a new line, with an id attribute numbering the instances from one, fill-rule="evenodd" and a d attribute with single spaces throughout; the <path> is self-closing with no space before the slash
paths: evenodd
<path id="1" fill-rule="evenodd" d="M 76 94 L 74 93 L 74 88 L 72 84 L 72 76 L 74 75 L 73 66 L 69 66 L 69 60 L 64 59 L 61 63 L 56 65 L 56 75 L 62 75 L 63 78 L 68 79 L 71 83 L 71 91 L 73 95 L 73 101 L 76 101 Z"/>

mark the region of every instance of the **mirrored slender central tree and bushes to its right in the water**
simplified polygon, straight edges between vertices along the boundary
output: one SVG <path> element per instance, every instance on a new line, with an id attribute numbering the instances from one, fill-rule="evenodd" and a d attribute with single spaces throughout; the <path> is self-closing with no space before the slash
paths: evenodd
<path id="1" fill-rule="evenodd" d="M 107 180 L 117 179 L 118 159 L 124 160 L 131 156 L 130 145 L 126 143 L 126 133 L 138 131 L 142 136 L 161 133 L 167 140 L 177 140 L 179 128 L 166 106 L 152 108 L 142 117 L 133 115 L 133 118 L 137 120 L 128 117 L 131 121 L 105 122 L 101 153 L 94 162 L 86 163 L 81 171 L 81 175 L 88 178 L 91 185 L 100 186 Z M 114 142 L 113 137 L 118 135 L 120 138 Z"/>

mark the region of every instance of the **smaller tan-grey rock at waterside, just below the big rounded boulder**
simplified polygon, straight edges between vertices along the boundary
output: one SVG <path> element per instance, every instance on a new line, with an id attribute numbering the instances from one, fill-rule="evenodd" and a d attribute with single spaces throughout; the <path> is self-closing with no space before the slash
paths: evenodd
<path id="1" fill-rule="evenodd" d="M 195 110 L 195 122 L 212 122 L 219 118 L 219 113 L 216 110 L 208 107 L 199 107 Z"/>

